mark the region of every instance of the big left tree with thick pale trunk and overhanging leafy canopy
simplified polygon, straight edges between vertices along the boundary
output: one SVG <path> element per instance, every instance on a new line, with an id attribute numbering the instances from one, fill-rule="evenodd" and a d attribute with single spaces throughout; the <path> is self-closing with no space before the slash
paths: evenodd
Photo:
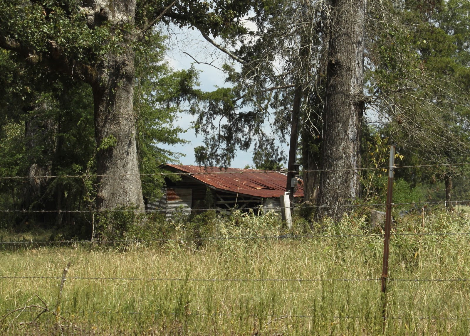
<path id="1" fill-rule="evenodd" d="M 217 35 L 237 26 L 250 1 L 3 1 L 0 47 L 90 84 L 99 209 L 143 207 L 133 110 L 135 49 L 164 20 Z M 233 31 L 233 30 L 232 30 Z"/>

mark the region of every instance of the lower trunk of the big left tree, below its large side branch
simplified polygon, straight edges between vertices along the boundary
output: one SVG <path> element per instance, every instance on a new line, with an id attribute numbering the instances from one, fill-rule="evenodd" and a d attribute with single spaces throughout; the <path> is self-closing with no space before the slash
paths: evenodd
<path id="1" fill-rule="evenodd" d="M 94 85 L 98 209 L 143 209 L 133 111 L 133 53 L 113 57 Z"/>

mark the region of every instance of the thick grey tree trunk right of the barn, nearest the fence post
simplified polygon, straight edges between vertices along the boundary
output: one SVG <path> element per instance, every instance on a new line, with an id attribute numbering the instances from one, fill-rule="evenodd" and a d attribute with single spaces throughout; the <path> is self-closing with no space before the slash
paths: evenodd
<path id="1" fill-rule="evenodd" d="M 332 0 L 317 218 L 338 220 L 360 193 L 366 0 Z"/>

